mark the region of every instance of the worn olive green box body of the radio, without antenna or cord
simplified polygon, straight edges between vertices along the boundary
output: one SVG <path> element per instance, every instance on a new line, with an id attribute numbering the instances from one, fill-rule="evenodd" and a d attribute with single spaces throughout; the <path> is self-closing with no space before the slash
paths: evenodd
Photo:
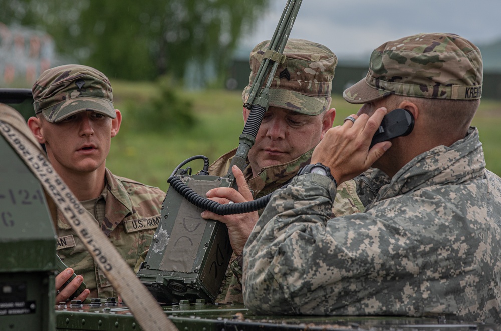
<path id="1" fill-rule="evenodd" d="M 227 178 L 180 176 L 203 196 L 211 188 L 230 186 Z M 202 211 L 172 187 L 167 191 L 160 224 L 137 273 L 159 303 L 213 302 L 217 296 L 233 250 L 226 225 L 201 218 Z"/>

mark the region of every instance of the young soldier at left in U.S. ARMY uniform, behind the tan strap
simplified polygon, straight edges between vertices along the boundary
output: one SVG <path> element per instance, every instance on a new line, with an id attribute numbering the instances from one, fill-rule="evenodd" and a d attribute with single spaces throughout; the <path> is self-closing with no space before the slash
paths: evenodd
<path id="1" fill-rule="evenodd" d="M 32 133 L 45 145 L 54 169 L 137 271 L 159 223 L 165 192 L 115 176 L 105 167 L 111 138 L 122 120 L 120 111 L 113 107 L 108 78 L 86 66 L 59 66 L 42 73 L 32 91 L 37 115 L 28 120 Z M 56 231 L 58 255 L 83 276 L 90 296 L 117 297 L 61 213 Z M 68 276 L 61 278 L 65 273 L 56 279 L 56 288 L 66 281 Z M 75 278 L 79 284 L 81 276 Z M 57 302 L 72 294 L 70 285 L 57 295 Z"/>

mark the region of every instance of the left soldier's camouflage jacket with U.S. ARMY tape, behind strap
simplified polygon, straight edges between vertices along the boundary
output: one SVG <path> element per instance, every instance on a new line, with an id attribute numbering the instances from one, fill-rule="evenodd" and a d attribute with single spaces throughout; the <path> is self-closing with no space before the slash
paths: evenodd
<path id="1" fill-rule="evenodd" d="M 165 192 L 156 187 L 118 177 L 106 169 L 106 205 L 104 221 L 99 224 L 127 264 L 138 271 L 160 222 Z M 117 297 L 116 291 L 95 265 L 92 256 L 71 228 L 58 215 L 58 248 L 61 260 L 84 277 L 89 297 Z"/>

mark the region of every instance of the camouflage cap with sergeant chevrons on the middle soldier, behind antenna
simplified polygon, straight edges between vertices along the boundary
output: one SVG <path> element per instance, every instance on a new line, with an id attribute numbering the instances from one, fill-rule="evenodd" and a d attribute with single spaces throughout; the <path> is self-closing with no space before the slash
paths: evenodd
<path id="1" fill-rule="evenodd" d="M 244 103 L 269 42 L 259 43 L 250 53 L 249 85 L 242 92 Z M 336 55 L 324 45 L 304 39 L 289 39 L 283 55 L 285 61 L 279 64 L 270 87 L 270 106 L 307 115 L 322 113 L 331 103 Z"/>

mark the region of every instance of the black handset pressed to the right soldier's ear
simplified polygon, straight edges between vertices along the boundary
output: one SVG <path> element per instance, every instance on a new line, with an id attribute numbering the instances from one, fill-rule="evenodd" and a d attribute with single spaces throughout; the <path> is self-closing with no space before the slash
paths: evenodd
<path id="1" fill-rule="evenodd" d="M 414 128 L 414 116 L 407 109 L 397 108 L 383 117 L 379 129 L 372 137 L 371 146 L 396 137 L 407 136 Z M 369 147 L 369 148 L 370 148 Z"/>

